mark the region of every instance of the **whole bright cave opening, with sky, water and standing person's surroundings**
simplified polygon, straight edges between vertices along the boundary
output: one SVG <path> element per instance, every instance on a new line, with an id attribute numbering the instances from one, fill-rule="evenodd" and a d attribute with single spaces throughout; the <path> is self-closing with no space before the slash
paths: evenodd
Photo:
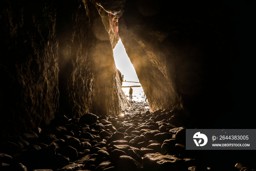
<path id="1" fill-rule="evenodd" d="M 117 42 L 115 48 L 113 49 L 113 53 L 116 68 L 124 76 L 122 89 L 125 96 L 129 100 L 129 88 L 130 86 L 132 86 L 132 100 L 137 102 L 145 101 L 146 96 L 144 95 L 143 88 L 139 82 L 138 76 L 129 57 L 125 52 L 125 48 L 121 39 L 119 39 L 119 41 Z"/>

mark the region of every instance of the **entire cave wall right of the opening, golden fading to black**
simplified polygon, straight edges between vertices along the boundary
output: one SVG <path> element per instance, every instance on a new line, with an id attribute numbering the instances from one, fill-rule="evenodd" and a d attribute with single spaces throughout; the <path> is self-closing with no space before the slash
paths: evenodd
<path id="1" fill-rule="evenodd" d="M 249 22 L 255 4 L 239 0 L 97 2 L 106 11 L 118 11 L 118 5 L 124 9 L 118 14 L 118 33 L 151 110 L 183 108 L 203 119 L 204 126 L 236 128 L 237 117 L 245 111 L 243 121 L 250 121 L 252 110 L 243 106 L 252 103 L 243 99 L 255 92 L 246 86 L 252 85 L 248 54 L 252 51 L 246 46 L 255 45 L 249 38 L 255 38 L 255 27 Z"/>

